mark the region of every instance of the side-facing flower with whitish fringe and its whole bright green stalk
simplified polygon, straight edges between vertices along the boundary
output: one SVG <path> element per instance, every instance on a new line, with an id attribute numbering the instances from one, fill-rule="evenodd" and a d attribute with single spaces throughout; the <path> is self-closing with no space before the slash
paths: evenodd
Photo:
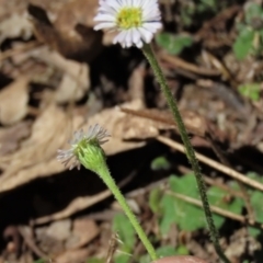
<path id="1" fill-rule="evenodd" d="M 85 169 L 96 173 L 103 180 L 122 206 L 152 261 L 155 261 L 158 258 L 151 242 L 147 238 L 139 221 L 121 193 L 107 168 L 106 157 L 101 145 L 105 144 L 107 141 L 107 137 L 110 136 L 111 135 L 107 130 L 103 129 L 99 125 L 91 126 L 87 134 L 83 133 L 83 130 L 76 132 L 73 139 L 69 141 L 71 144 L 71 148 L 69 150 L 58 150 L 57 159 L 66 167 L 69 167 L 69 169 L 75 167 L 79 169 L 82 164 Z"/>

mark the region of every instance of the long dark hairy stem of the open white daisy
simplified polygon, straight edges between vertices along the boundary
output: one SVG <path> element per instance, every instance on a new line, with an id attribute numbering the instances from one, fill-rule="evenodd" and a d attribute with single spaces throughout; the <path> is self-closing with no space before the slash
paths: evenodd
<path id="1" fill-rule="evenodd" d="M 207 225 L 208 225 L 208 228 L 209 228 L 209 231 L 210 231 L 210 238 L 211 238 L 211 241 L 214 243 L 215 250 L 216 250 L 218 256 L 221 259 L 222 262 L 230 263 L 230 261 L 224 254 L 222 249 L 221 249 L 220 243 L 219 243 L 218 232 L 217 232 L 217 229 L 216 229 L 214 220 L 213 220 L 213 215 L 211 215 L 209 202 L 208 202 L 208 198 L 207 198 L 207 195 L 206 195 L 205 181 L 202 176 L 201 168 L 199 168 L 198 161 L 195 157 L 195 151 L 194 151 L 193 146 L 191 145 L 191 141 L 190 141 L 185 125 L 183 123 L 183 119 L 181 117 L 180 111 L 178 108 L 176 101 L 173 98 L 173 94 L 172 94 L 170 88 L 168 87 L 167 80 L 165 80 L 165 78 L 163 76 L 163 72 L 162 72 L 162 70 L 161 70 L 161 68 L 160 68 L 160 66 L 159 66 L 159 64 L 156 59 L 156 56 L 152 52 L 151 46 L 148 45 L 148 44 L 145 44 L 145 46 L 142 47 L 142 52 L 144 52 L 146 58 L 148 59 L 158 82 L 161 85 L 161 90 L 162 90 L 162 92 L 163 92 L 163 94 L 164 94 L 164 96 L 168 101 L 168 105 L 169 105 L 169 107 L 170 107 L 170 110 L 173 114 L 173 118 L 174 118 L 174 121 L 178 125 L 181 138 L 182 138 L 184 147 L 185 147 L 186 156 L 188 158 L 188 161 L 190 161 L 190 163 L 193 168 L 193 171 L 194 171 L 194 174 L 195 174 L 195 178 L 196 178 L 196 182 L 197 182 L 201 199 L 202 199 L 202 203 L 203 203 Z"/>

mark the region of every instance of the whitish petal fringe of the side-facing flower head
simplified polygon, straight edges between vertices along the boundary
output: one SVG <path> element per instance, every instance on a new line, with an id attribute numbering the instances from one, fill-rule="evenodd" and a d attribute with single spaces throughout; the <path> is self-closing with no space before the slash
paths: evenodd
<path id="1" fill-rule="evenodd" d="M 73 139 L 69 141 L 71 148 L 68 150 L 59 149 L 57 160 L 61 161 L 65 167 L 69 167 L 69 170 L 75 167 L 80 170 L 81 161 L 79 157 L 84 151 L 84 148 L 89 147 L 89 144 L 101 146 L 108 141 L 106 137 L 111 137 L 111 135 L 98 124 L 90 126 L 87 134 L 83 129 L 75 132 Z"/>

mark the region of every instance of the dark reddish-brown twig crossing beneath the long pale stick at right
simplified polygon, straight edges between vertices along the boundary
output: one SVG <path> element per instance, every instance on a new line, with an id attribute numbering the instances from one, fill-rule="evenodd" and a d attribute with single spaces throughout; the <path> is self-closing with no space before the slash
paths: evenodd
<path id="1" fill-rule="evenodd" d="M 222 164 L 225 164 L 226 167 L 229 167 L 230 169 L 233 170 L 232 165 L 230 164 L 230 162 L 227 160 L 227 158 L 224 156 L 224 153 L 221 152 L 220 148 L 215 144 L 215 141 L 213 140 L 210 134 L 206 133 L 206 139 L 210 142 L 210 146 L 214 150 L 214 152 L 217 155 L 217 157 L 219 158 L 219 160 L 221 161 Z M 250 203 L 250 195 L 247 191 L 247 188 L 244 187 L 243 183 L 237 181 L 239 188 L 242 193 L 242 198 L 244 201 L 245 204 L 245 208 L 248 211 L 248 216 L 251 220 L 255 220 L 254 218 L 254 211 L 253 208 L 251 206 Z"/>

